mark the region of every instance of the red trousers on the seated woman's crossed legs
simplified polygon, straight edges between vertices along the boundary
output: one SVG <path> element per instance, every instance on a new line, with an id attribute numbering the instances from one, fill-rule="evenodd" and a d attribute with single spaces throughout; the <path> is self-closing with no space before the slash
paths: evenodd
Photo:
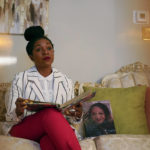
<path id="1" fill-rule="evenodd" d="M 81 150 L 76 135 L 56 109 L 44 109 L 14 125 L 10 134 L 39 141 L 42 150 Z"/>

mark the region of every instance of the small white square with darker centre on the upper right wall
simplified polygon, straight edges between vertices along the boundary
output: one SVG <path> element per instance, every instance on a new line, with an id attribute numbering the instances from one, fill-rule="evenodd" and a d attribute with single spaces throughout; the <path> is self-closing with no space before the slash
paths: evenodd
<path id="1" fill-rule="evenodd" d="M 148 11 L 133 11 L 133 22 L 135 24 L 148 24 L 149 12 Z"/>

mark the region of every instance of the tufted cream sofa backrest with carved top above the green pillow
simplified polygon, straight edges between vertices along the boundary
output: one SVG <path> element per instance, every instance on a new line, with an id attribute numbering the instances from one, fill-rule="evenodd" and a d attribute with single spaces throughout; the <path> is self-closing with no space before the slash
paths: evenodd
<path id="1" fill-rule="evenodd" d="M 135 62 L 121 67 L 115 73 L 108 74 L 101 79 L 100 83 L 84 82 L 75 83 L 76 95 L 84 92 L 84 87 L 101 88 L 127 88 L 137 85 L 150 86 L 150 66 L 141 62 Z"/>

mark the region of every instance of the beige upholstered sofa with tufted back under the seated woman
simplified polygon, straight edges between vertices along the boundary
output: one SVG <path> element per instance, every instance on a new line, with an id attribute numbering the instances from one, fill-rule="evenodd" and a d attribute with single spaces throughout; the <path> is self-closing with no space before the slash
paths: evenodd
<path id="1" fill-rule="evenodd" d="M 75 84 L 75 93 L 76 95 L 84 92 L 84 87 L 97 87 L 97 88 L 129 88 L 134 86 L 146 85 L 150 86 L 150 67 L 144 65 L 140 62 L 130 64 L 122 67 L 117 72 L 106 75 L 102 78 L 100 83 L 79 83 Z M 40 150 L 38 143 L 21 139 L 8 137 L 3 135 L 2 126 L 5 122 L 5 107 L 4 107 L 4 97 L 6 91 L 9 89 L 10 83 L 1 83 L 0 84 L 0 150 Z M 149 107 L 150 100 L 149 94 L 146 91 L 146 98 L 143 98 L 145 117 L 147 121 L 147 130 L 150 130 L 150 118 Z M 147 100 L 146 100 L 147 99 Z M 77 128 L 78 132 L 84 137 L 84 128 L 82 126 L 82 121 L 78 124 L 73 124 Z M 111 135 L 102 135 L 93 138 L 84 138 L 79 141 L 82 147 L 82 150 L 149 150 L 150 149 L 150 134 L 149 132 L 143 134 L 111 134 Z"/>

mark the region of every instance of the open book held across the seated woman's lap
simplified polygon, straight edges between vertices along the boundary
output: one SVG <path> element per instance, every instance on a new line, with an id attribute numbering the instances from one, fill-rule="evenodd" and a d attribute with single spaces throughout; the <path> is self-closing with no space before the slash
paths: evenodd
<path id="1" fill-rule="evenodd" d="M 50 102 L 40 102 L 40 101 L 33 101 L 29 99 L 25 99 L 25 103 L 27 104 L 27 110 L 30 111 L 38 111 L 44 108 L 57 108 L 58 110 L 65 111 L 66 109 L 72 108 L 72 106 L 80 104 L 84 101 L 87 101 L 95 96 L 95 92 L 91 90 L 67 101 L 64 104 L 55 104 Z"/>

